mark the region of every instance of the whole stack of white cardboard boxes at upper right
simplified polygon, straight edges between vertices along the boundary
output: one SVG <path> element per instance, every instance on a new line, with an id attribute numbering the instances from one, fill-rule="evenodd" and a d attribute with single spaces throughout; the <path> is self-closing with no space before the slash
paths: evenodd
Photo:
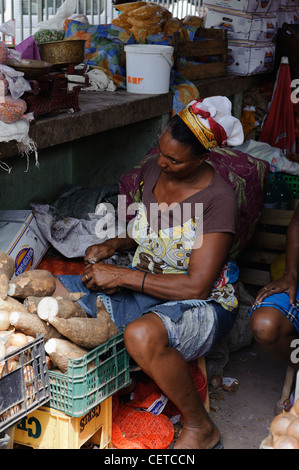
<path id="1" fill-rule="evenodd" d="M 227 72 L 252 75 L 273 70 L 278 0 L 204 0 L 205 27 L 227 31 Z"/>

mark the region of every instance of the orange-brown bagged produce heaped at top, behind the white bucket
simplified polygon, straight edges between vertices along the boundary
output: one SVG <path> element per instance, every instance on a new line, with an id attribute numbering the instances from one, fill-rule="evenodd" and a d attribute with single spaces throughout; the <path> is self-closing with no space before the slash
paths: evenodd
<path id="1" fill-rule="evenodd" d="M 172 13 L 156 3 L 137 1 L 115 5 L 121 13 L 111 21 L 115 26 L 133 35 L 139 43 L 145 43 L 146 37 L 154 34 L 173 36 L 175 32 L 188 39 L 185 26 L 201 26 L 202 18 L 188 15 L 182 20 L 173 18 Z"/>

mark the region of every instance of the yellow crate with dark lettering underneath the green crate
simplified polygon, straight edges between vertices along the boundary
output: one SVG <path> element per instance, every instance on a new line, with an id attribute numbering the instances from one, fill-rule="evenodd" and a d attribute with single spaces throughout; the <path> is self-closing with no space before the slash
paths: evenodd
<path id="1" fill-rule="evenodd" d="M 80 449 L 90 442 L 107 448 L 112 434 L 112 397 L 80 418 L 41 406 L 16 427 L 15 443 L 33 449 Z"/>

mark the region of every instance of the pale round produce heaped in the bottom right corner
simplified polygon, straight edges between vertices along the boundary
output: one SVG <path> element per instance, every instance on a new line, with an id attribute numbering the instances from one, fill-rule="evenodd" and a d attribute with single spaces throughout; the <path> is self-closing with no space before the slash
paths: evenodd
<path id="1" fill-rule="evenodd" d="M 260 447 L 299 449 L 299 399 L 290 411 L 275 416 L 270 425 L 270 434 Z"/>

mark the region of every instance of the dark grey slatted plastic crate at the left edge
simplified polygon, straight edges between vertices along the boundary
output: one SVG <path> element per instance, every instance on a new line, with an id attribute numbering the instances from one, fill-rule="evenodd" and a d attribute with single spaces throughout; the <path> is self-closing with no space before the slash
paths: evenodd
<path id="1" fill-rule="evenodd" d="M 16 355 L 19 366 L 8 372 L 9 360 Z M 39 335 L 22 348 L 7 354 L 1 362 L 4 362 L 0 379 L 0 433 L 3 433 L 49 401 L 50 382 L 43 336 Z"/>

